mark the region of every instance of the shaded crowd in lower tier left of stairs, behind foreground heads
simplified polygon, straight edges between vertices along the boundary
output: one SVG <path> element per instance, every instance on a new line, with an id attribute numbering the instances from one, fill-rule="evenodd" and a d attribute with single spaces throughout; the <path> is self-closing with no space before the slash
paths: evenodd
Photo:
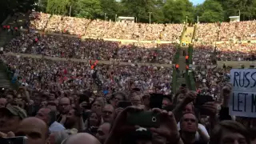
<path id="1" fill-rule="evenodd" d="M 129 90 L 129 86 L 134 85 L 145 91 L 171 93 L 172 68 L 121 66 L 118 62 L 111 65 L 96 64 L 92 68 L 94 62 L 55 62 L 10 55 L 2 60 L 8 63 L 14 74 L 13 82 L 19 82 L 31 90 L 98 90 L 102 94 L 103 91 Z"/>

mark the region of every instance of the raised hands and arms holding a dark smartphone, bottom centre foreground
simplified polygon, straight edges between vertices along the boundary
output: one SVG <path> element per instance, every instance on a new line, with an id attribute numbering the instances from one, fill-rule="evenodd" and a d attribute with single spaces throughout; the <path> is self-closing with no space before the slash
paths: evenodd
<path id="1" fill-rule="evenodd" d="M 132 125 L 129 125 L 127 123 L 127 120 L 126 118 L 128 118 L 128 115 L 130 114 L 138 114 L 138 113 L 144 113 L 143 112 L 144 109 L 142 108 L 139 108 L 139 107 L 136 107 L 136 106 L 129 106 L 127 107 L 125 110 L 122 110 L 122 112 L 120 114 L 118 114 L 118 117 L 115 119 L 114 121 L 114 126 L 112 126 L 112 129 L 110 131 L 110 136 L 109 138 L 106 139 L 106 142 L 105 144 L 118 144 L 119 141 L 124 138 L 127 134 L 129 133 L 134 133 L 137 131 L 137 133 L 139 131 L 141 131 L 140 134 L 143 134 L 143 142 L 147 142 L 147 141 L 152 141 L 152 142 L 158 142 L 158 143 L 161 143 L 161 144 L 166 144 L 167 142 L 168 143 L 175 143 L 175 144 L 182 144 L 182 140 L 180 139 L 179 137 L 179 134 L 178 134 L 178 129 L 177 129 L 177 123 L 175 121 L 175 118 L 174 118 L 174 114 L 172 114 L 172 112 L 167 112 L 166 110 L 160 110 L 160 109 L 153 109 L 152 112 L 150 113 L 154 113 L 156 115 L 158 115 L 157 117 L 155 118 L 159 118 L 157 120 L 157 122 L 159 122 L 159 125 L 158 123 L 155 123 L 157 124 L 158 126 L 154 127 L 148 127 L 148 128 L 143 128 L 141 126 L 132 126 Z M 150 114 L 148 113 L 148 114 Z M 143 117 L 145 118 L 145 117 Z M 146 117 L 146 118 L 150 118 L 150 117 Z M 151 119 L 151 118 L 150 118 Z M 148 122 L 150 122 L 150 119 L 148 119 Z M 154 122 L 153 122 L 154 123 Z M 152 123 L 152 124 L 153 124 Z M 146 123 L 145 123 L 146 124 Z M 150 124 L 150 123 L 148 123 Z M 143 132 L 144 131 L 144 132 Z M 151 138 L 149 137 L 150 135 L 145 135 L 145 132 L 146 134 L 148 134 L 147 132 L 150 132 L 149 134 L 152 134 L 153 135 L 153 138 L 151 136 Z M 135 136 L 135 135 L 134 135 Z M 145 141 L 145 136 L 146 138 L 150 138 L 150 139 L 147 139 Z M 137 141 L 140 141 L 140 137 L 137 137 Z M 128 140 L 128 139 L 126 139 Z M 134 141 L 134 139 L 130 139 L 132 141 Z M 126 143 L 126 142 L 124 142 Z"/>

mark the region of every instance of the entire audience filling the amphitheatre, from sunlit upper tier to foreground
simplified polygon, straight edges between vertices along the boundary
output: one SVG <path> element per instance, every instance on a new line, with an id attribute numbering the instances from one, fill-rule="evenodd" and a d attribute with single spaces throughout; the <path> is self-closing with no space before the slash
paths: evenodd
<path id="1" fill-rule="evenodd" d="M 174 44 L 125 45 L 102 38 L 172 41 L 180 37 L 182 24 L 105 22 L 42 13 L 31 18 L 31 28 L 92 39 L 30 30 L 4 46 L 5 52 L 42 57 L 1 55 L 13 76 L 11 82 L 20 86 L 18 90 L 0 89 L 0 143 L 10 143 L 19 136 L 26 136 L 27 144 L 256 143 L 254 118 L 229 113 L 230 67 L 220 69 L 214 64 L 216 59 L 247 60 L 254 53 L 254 44 L 211 46 L 195 42 L 196 67 L 192 71 L 197 91 L 181 84 L 174 94 Z M 198 24 L 198 40 L 250 39 L 253 22 Z M 238 31 L 230 32 L 234 25 Z M 223 35 L 223 26 L 228 26 L 228 35 Z"/>

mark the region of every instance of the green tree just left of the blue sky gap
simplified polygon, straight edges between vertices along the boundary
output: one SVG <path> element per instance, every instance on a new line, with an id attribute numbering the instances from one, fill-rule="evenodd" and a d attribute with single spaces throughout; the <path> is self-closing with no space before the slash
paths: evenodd
<path id="1" fill-rule="evenodd" d="M 188 22 L 193 22 L 193 10 L 193 4 L 189 0 L 167 0 L 165 6 L 163 6 L 166 22 L 186 22 L 186 16 Z"/>

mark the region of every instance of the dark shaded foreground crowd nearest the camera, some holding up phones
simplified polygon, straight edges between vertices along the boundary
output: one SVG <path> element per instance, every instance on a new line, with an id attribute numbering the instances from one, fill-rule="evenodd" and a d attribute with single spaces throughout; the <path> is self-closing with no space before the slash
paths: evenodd
<path id="1" fill-rule="evenodd" d="M 239 118 L 234 120 L 229 114 L 230 87 L 219 89 L 223 101 L 218 107 L 215 102 L 198 105 L 196 99 L 206 97 L 206 92 L 196 94 L 186 86 L 174 98 L 136 85 L 125 93 L 105 94 L 20 86 L 17 91 L 2 90 L 0 136 L 4 142 L 26 136 L 28 144 L 253 144 L 254 120 L 236 122 Z"/>

